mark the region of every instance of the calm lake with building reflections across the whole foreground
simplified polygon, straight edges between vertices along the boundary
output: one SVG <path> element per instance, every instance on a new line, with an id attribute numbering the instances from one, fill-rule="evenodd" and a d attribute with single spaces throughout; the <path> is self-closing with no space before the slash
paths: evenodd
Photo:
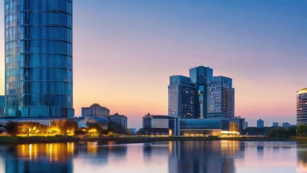
<path id="1" fill-rule="evenodd" d="M 307 143 L 2 144 L 0 173 L 307 173 Z"/>

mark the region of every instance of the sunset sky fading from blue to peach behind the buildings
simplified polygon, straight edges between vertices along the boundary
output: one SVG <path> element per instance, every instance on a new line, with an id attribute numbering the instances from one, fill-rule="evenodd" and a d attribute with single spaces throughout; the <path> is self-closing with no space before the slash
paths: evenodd
<path id="1" fill-rule="evenodd" d="M 168 114 L 169 77 L 203 65 L 232 78 L 235 116 L 248 126 L 296 124 L 296 91 L 307 88 L 306 9 L 306 0 L 74 0 L 75 115 L 98 103 L 141 128 L 144 115 Z"/>

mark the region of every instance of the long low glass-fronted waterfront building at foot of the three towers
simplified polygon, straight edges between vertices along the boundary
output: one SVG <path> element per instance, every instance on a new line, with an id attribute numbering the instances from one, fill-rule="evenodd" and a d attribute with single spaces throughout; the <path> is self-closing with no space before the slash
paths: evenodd
<path id="1" fill-rule="evenodd" d="M 180 118 L 166 115 L 143 117 L 143 130 L 147 135 L 169 136 L 233 136 L 244 128 L 243 118 Z"/>

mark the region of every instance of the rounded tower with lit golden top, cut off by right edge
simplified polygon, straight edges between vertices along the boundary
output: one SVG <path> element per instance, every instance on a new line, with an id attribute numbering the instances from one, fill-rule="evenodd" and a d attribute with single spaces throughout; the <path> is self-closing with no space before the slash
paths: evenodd
<path id="1" fill-rule="evenodd" d="M 307 124 L 307 88 L 296 92 L 296 124 Z"/>

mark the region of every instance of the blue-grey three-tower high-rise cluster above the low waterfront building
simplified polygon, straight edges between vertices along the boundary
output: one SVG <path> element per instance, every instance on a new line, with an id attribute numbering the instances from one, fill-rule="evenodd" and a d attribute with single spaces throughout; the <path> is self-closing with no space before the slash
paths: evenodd
<path id="1" fill-rule="evenodd" d="M 171 76 L 168 115 L 181 118 L 234 118 L 232 79 L 214 77 L 209 67 L 190 69 L 190 77 Z"/>

